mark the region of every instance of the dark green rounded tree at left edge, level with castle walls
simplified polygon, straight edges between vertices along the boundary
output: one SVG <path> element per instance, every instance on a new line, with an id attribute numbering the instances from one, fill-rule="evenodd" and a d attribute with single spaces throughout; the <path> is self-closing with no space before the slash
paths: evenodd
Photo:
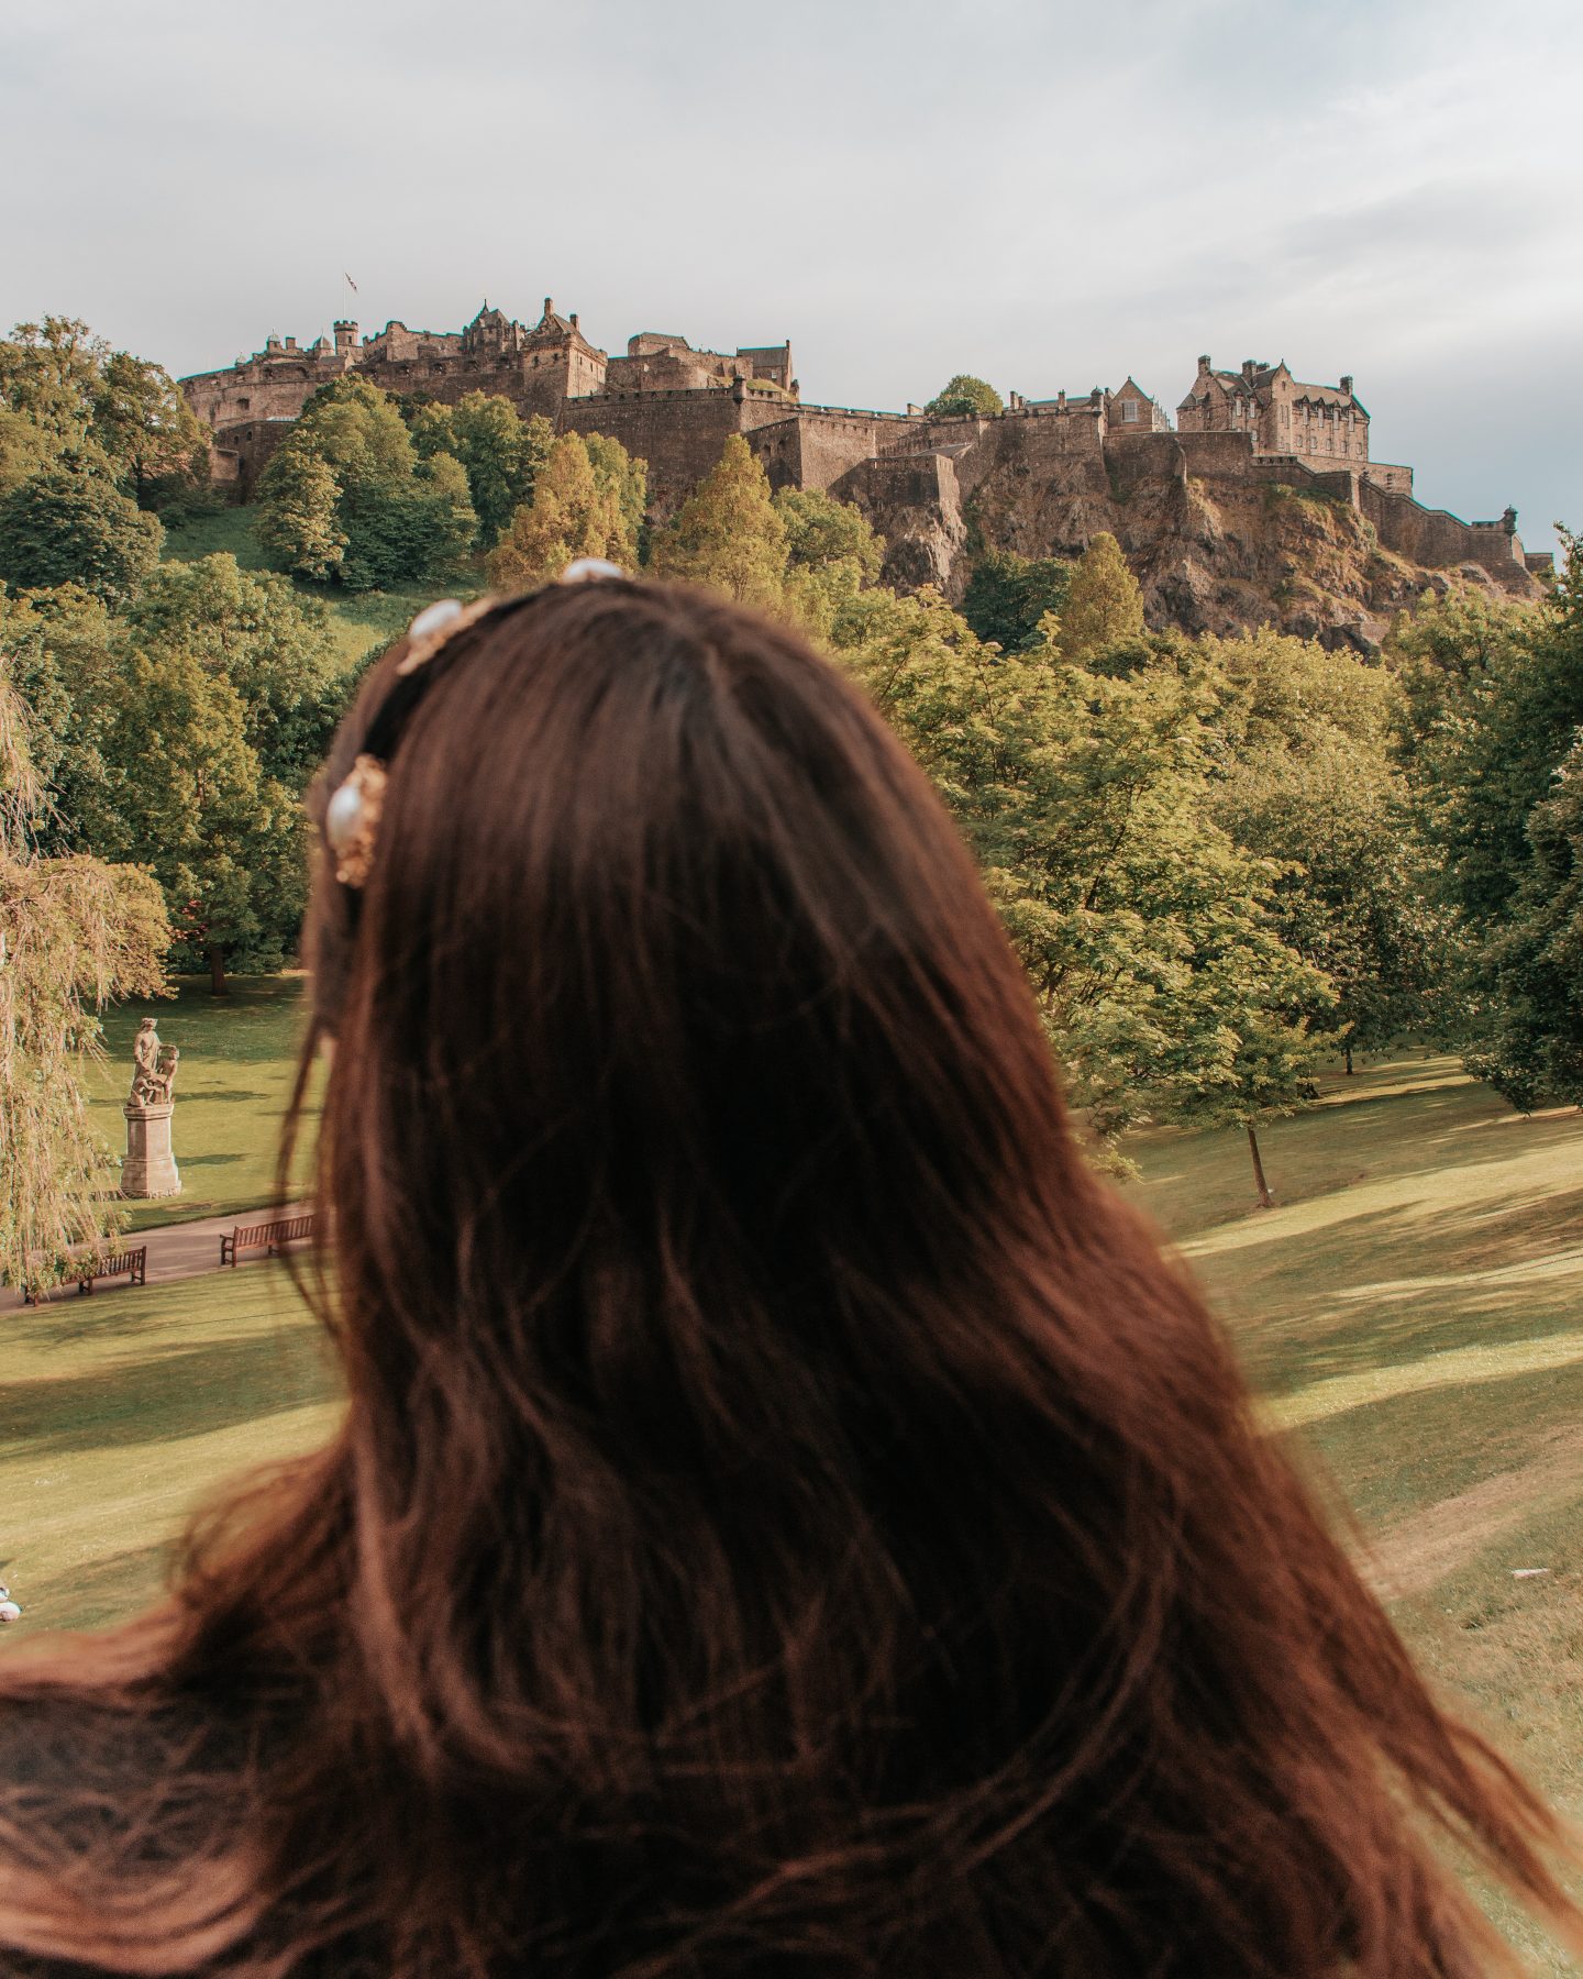
<path id="1" fill-rule="evenodd" d="M 18 590 L 81 584 L 119 604 L 160 556 L 164 530 L 152 515 L 71 457 L 34 475 L 0 501 L 0 578 Z"/>

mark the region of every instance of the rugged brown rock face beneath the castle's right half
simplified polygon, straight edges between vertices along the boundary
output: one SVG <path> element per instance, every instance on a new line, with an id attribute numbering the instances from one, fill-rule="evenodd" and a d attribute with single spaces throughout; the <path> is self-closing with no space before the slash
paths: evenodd
<path id="1" fill-rule="evenodd" d="M 1076 558 L 1108 530 L 1156 629 L 1274 625 L 1361 649 L 1431 590 L 1462 582 L 1508 598 L 1541 596 L 1510 524 L 1458 522 L 1357 475 L 1292 465 L 1253 477 L 1241 461 L 1237 473 L 1189 473 L 1175 435 L 1037 459 L 1019 445 L 1025 431 L 1015 424 L 993 425 L 989 445 L 871 461 L 835 487 L 886 538 L 886 582 L 936 584 L 960 600 L 979 548 Z M 1391 536 L 1439 554 L 1419 562 L 1389 548 Z M 1443 562 L 1458 548 L 1474 554 Z"/>

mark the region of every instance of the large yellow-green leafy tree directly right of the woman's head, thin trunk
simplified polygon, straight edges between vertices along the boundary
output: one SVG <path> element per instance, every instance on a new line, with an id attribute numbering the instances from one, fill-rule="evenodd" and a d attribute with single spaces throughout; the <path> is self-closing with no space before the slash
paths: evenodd
<path id="1" fill-rule="evenodd" d="M 1205 683 L 995 661 L 928 594 L 865 594 L 841 657 L 974 847 L 1094 1134 L 1237 1122 L 1257 1154 L 1306 1104 L 1334 991 L 1280 936 L 1278 869 L 1213 817 Z"/>

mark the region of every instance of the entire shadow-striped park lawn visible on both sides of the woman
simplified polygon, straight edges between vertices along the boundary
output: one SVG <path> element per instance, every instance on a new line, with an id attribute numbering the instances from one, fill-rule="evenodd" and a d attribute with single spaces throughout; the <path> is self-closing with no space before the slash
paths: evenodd
<path id="1" fill-rule="evenodd" d="M 178 1160 L 214 1197 L 267 1189 L 297 1007 L 289 980 L 160 1007 L 184 1049 Z M 1415 1051 L 1326 1079 L 1260 1138 L 1270 1211 L 1235 1132 L 1144 1136 L 1130 1193 L 1225 1314 L 1272 1429 L 1355 1514 L 1423 1664 L 1583 1817 L 1583 1118 L 1522 1118 Z M 216 1480 L 334 1419 L 273 1267 L 6 1328 L 0 1555 L 28 1607 L 8 1641 L 127 1613 Z M 1498 1914 L 1537 1969 L 1575 1969 Z"/>

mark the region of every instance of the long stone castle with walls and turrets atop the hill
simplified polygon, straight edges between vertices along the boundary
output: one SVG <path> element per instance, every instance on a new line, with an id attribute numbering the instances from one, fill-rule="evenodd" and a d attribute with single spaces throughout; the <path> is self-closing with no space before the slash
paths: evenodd
<path id="1" fill-rule="evenodd" d="M 558 315 L 548 297 L 534 325 L 489 303 L 457 332 L 388 323 L 360 338 L 358 325 L 342 321 L 305 348 L 269 336 L 253 356 L 182 380 L 210 429 L 216 479 L 251 493 L 307 400 L 346 374 L 443 404 L 487 392 L 524 416 L 542 414 L 558 431 L 607 433 L 649 463 L 661 517 L 740 433 L 774 487 L 823 489 L 865 509 L 892 538 L 896 582 L 938 582 L 948 592 L 960 590 L 960 518 L 976 497 L 979 507 L 993 497 L 1005 546 L 1071 554 L 1106 501 L 1124 501 L 1140 481 L 1185 491 L 1189 477 L 1344 501 L 1385 550 L 1427 568 L 1472 564 L 1508 590 L 1549 562 L 1524 554 L 1514 509 L 1500 520 L 1462 522 L 1421 507 L 1411 467 L 1371 459 L 1369 414 L 1348 376 L 1304 384 L 1284 362 L 1249 358 L 1239 370 L 1215 370 L 1201 356 L 1175 425 L 1134 378 L 1114 392 L 1013 392 L 993 418 L 936 418 L 920 406 L 869 412 L 805 404 L 790 342 L 728 354 L 641 330 L 625 356 L 609 356 L 576 313 Z"/>

